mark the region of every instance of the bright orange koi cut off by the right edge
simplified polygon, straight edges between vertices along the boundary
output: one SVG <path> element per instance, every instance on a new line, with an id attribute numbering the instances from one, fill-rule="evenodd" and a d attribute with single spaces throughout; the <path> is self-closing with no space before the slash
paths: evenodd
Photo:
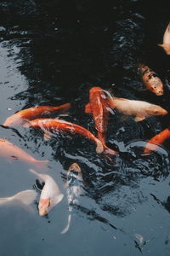
<path id="1" fill-rule="evenodd" d="M 170 138 L 170 127 L 161 131 L 160 133 L 158 133 L 156 136 L 152 137 L 145 145 L 144 148 L 144 154 L 149 154 L 150 151 L 152 150 L 156 150 L 156 148 L 158 147 L 159 144 L 164 143 L 167 139 Z M 153 143 L 155 145 L 153 145 L 150 148 L 150 143 Z"/>

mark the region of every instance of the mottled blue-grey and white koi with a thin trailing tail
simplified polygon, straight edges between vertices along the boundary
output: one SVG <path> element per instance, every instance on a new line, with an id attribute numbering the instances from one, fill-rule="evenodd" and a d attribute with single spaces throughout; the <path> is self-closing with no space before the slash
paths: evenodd
<path id="1" fill-rule="evenodd" d="M 61 234 L 65 234 L 71 225 L 71 212 L 72 206 L 75 203 L 78 203 L 78 197 L 81 195 L 81 187 L 82 183 L 82 170 L 77 163 L 72 164 L 66 175 L 66 192 L 67 192 L 67 200 L 69 205 L 69 216 L 68 216 L 68 224 L 65 229 L 61 231 Z"/>

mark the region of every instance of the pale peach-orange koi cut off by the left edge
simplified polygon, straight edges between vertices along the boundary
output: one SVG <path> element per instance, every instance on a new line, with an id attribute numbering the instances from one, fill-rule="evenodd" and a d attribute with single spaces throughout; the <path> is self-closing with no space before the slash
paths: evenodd
<path id="1" fill-rule="evenodd" d="M 6 157 L 9 160 L 20 160 L 38 168 L 48 163 L 48 160 L 36 160 L 31 154 L 27 154 L 26 151 L 3 139 L 0 139 L 0 157 Z"/>

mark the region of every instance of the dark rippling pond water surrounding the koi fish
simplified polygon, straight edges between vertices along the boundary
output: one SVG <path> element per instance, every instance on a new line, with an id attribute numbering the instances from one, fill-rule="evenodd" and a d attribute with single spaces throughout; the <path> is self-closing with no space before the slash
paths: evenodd
<path id="1" fill-rule="evenodd" d="M 1 0 L 0 22 L 0 124 L 23 108 L 71 102 L 61 118 L 95 134 L 84 113 L 93 86 L 170 110 L 169 56 L 157 46 L 169 22 L 168 2 Z M 140 91 L 140 61 L 159 74 L 164 96 Z M 144 141 L 168 126 L 169 114 L 139 123 L 111 115 L 107 143 L 122 151 L 113 163 L 82 137 L 44 142 L 37 131 L 1 127 L 1 138 L 50 161 L 48 174 L 65 195 L 48 218 L 38 215 L 38 199 L 31 207 L 1 206 L 1 255 L 169 255 L 169 142 L 141 154 Z M 65 175 L 74 161 L 82 168 L 82 196 L 61 235 L 69 214 Z M 1 159 L 0 196 L 32 189 L 29 168 Z"/>

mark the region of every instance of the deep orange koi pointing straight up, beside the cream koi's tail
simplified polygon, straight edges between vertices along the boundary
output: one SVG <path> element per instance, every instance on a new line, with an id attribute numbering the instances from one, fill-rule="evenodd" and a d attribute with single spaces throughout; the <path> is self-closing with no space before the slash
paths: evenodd
<path id="1" fill-rule="evenodd" d="M 109 106 L 107 97 L 100 87 L 93 87 L 89 91 L 89 103 L 85 108 L 86 113 L 92 113 L 95 123 L 95 129 L 98 131 L 97 137 L 102 142 L 103 147 L 110 154 L 117 154 L 117 152 L 105 145 L 105 132 L 109 119 Z"/>

